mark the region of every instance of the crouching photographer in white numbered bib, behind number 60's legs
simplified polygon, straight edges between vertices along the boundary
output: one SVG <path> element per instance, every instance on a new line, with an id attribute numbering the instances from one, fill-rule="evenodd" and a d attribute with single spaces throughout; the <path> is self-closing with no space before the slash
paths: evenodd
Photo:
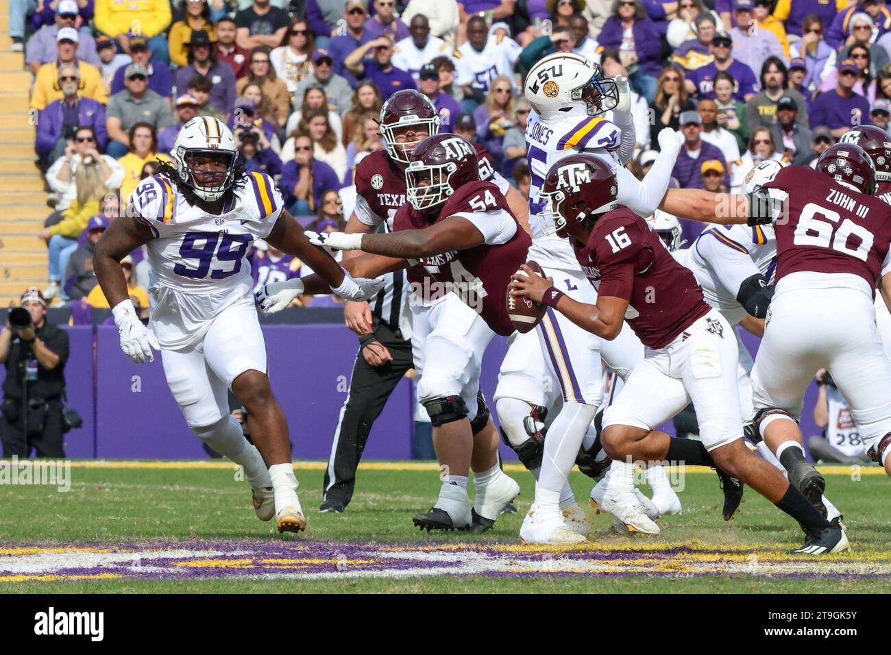
<path id="1" fill-rule="evenodd" d="M 847 401 L 830 372 L 820 369 L 816 381 L 817 402 L 813 405 L 813 422 L 818 428 L 823 428 L 823 434 L 807 440 L 813 460 L 842 464 L 871 463 L 869 456 L 863 452 L 862 439 Z"/>

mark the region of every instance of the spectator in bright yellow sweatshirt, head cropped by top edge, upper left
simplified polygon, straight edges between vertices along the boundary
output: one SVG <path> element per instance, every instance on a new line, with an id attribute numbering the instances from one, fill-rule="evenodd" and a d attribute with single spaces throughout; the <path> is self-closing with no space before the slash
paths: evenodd
<path id="1" fill-rule="evenodd" d="M 96 0 L 94 24 L 130 53 L 130 35 L 148 39 L 151 59 L 170 63 L 165 32 L 170 27 L 170 0 Z"/>

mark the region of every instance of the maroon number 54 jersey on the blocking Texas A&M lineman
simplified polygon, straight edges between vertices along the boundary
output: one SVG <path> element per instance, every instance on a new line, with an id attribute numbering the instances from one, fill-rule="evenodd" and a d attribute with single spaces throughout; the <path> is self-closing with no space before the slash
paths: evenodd
<path id="1" fill-rule="evenodd" d="M 482 209 L 485 208 L 485 209 Z M 422 230 L 446 217 L 458 213 L 479 213 L 503 209 L 511 217 L 511 209 L 498 187 L 491 182 L 464 184 L 446 201 L 438 216 L 422 214 L 411 205 L 396 212 L 393 232 Z M 516 217 L 513 217 L 516 223 Z M 511 275 L 526 263 L 532 240 L 517 224 L 517 230 L 502 245 L 483 243 L 469 250 L 451 250 L 412 262 L 408 268 L 408 282 L 413 291 L 424 299 L 437 299 L 449 291 L 475 309 L 492 330 L 503 336 L 515 328 L 507 314 L 504 294 Z"/>

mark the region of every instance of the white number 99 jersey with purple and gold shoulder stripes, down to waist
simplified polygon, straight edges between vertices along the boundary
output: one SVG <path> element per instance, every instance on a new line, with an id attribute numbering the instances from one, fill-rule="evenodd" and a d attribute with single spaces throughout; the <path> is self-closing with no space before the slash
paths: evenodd
<path id="1" fill-rule="evenodd" d="M 164 176 L 144 179 L 129 202 L 135 219 L 155 236 L 146 244 L 150 327 L 162 347 L 191 346 L 226 307 L 253 307 L 245 255 L 254 239 L 272 232 L 284 206 L 270 176 L 248 173 L 219 215 L 190 205 Z"/>

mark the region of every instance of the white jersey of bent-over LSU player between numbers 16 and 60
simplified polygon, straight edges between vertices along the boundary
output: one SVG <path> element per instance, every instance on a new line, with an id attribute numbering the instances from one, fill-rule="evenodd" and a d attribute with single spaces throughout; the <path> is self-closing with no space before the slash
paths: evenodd
<path id="1" fill-rule="evenodd" d="M 690 248 L 673 254 L 693 272 L 706 302 L 731 325 L 748 315 L 736 299 L 740 283 L 759 273 L 772 283 L 777 264 L 772 225 L 711 225 Z"/>

